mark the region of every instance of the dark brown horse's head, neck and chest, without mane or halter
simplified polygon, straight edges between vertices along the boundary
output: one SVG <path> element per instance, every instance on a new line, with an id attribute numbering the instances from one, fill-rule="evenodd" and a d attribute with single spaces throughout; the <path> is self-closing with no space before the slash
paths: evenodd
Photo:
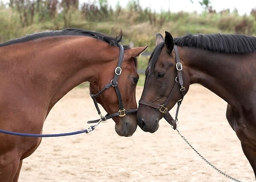
<path id="1" fill-rule="evenodd" d="M 219 41 L 227 43 L 222 39 Z M 254 41 L 253 45 L 256 48 L 256 39 Z M 172 51 L 175 39 L 173 40 L 167 32 L 165 40 L 162 37 L 158 40 L 158 44 L 160 42 L 164 42 L 163 49 L 160 49 L 159 56 L 155 59 L 153 57 L 157 53 L 151 55 L 141 97 L 141 100 L 157 104 L 164 103 L 175 84 L 176 77 L 175 53 Z M 227 120 L 241 141 L 244 154 L 256 174 L 256 50 L 230 53 L 203 49 L 201 44 L 200 47 L 196 45 L 177 44 L 180 62 L 183 65 L 183 86 L 188 92 L 190 84 L 201 84 L 227 101 Z M 221 43 L 217 45 L 222 46 Z M 152 61 L 155 61 L 154 65 Z M 164 76 L 157 78 L 157 74 Z M 152 83 L 159 85 L 157 90 L 151 87 Z M 176 91 L 168 105 L 168 110 L 181 98 L 180 92 Z M 205 102 L 207 104 L 208 101 Z M 148 115 L 148 112 L 152 115 Z M 153 107 L 142 104 L 138 107 L 137 122 L 144 131 L 151 133 L 156 131 L 158 129 L 156 124 L 162 117 L 163 113 Z"/>

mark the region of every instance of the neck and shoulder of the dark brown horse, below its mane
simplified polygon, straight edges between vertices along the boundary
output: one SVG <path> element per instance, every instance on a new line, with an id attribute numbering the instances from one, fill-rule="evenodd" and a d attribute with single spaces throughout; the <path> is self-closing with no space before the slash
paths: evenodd
<path id="1" fill-rule="evenodd" d="M 227 120 L 241 144 L 253 150 L 256 159 L 256 53 L 230 55 L 191 49 L 179 47 L 183 58 L 194 54 L 183 59 L 189 84 L 201 84 L 227 101 Z"/>

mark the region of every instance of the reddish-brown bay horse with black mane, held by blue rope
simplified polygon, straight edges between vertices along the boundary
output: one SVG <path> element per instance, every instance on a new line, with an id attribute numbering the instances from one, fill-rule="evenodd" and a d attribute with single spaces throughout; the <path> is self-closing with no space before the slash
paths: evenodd
<path id="1" fill-rule="evenodd" d="M 112 37 L 89 30 L 64 29 L 1 43 L 0 129 L 42 133 L 52 107 L 74 87 L 89 81 L 90 92 L 96 94 L 106 84 L 113 84 L 111 79 L 117 74 L 120 53 L 123 58 L 122 69 L 118 68 L 118 86 L 123 107 L 137 109 L 136 57 L 147 46 L 119 46 L 121 40 L 122 32 Z M 115 85 L 110 85 L 96 101 L 108 114 L 116 113 L 119 100 Z M 131 136 L 137 128 L 135 114 L 113 117 L 113 120 L 120 136 Z M 30 156 L 40 142 L 41 138 L 0 133 L 0 182 L 17 181 L 23 159 Z"/>

